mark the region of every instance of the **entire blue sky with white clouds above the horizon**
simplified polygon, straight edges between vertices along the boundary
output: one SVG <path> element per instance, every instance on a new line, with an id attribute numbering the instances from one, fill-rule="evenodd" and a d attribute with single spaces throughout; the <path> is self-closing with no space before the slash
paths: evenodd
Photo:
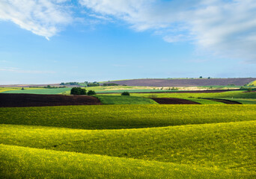
<path id="1" fill-rule="evenodd" d="M 256 77 L 255 0 L 1 0 L 0 84 Z"/>

